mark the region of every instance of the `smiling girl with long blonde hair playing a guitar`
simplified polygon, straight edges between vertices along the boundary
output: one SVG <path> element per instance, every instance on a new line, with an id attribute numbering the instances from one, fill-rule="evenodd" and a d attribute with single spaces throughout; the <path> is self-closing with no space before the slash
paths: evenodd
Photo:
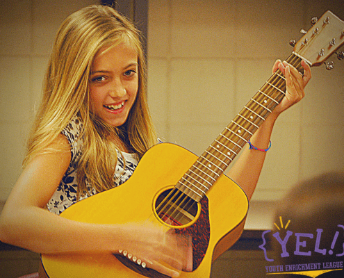
<path id="1" fill-rule="evenodd" d="M 302 65 L 303 76 L 276 61 L 273 70 L 286 76 L 286 97 L 252 136 L 257 148 L 268 147 L 278 115 L 304 97 L 311 72 Z M 177 277 L 175 269 L 189 262 L 173 234 L 136 223 L 88 224 L 58 216 L 129 179 L 156 143 L 136 28 L 107 6 L 70 15 L 56 37 L 24 170 L 1 214 L 0 240 L 44 254 L 128 250 L 149 268 Z M 248 198 L 264 158 L 265 152 L 247 148 L 229 171 Z"/>

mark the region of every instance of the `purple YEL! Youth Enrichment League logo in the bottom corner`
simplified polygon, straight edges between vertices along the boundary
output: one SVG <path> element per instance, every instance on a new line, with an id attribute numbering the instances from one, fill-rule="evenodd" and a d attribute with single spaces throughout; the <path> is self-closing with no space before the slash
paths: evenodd
<path id="1" fill-rule="evenodd" d="M 278 265 L 271 264 L 266 265 L 266 274 L 267 275 L 278 275 L 278 274 L 294 274 L 294 275 L 306 275 L 309 277 L 318 277 L 319 275 L 322 275 L 325 272 L 331 272 L 335 270 L 343 270 L 343 261 L 341 261 L 341 256 L 344 256 L 344 238 L 340 235 L 340 231 L 336 231 L 334 233 L 333 239 L 331 239 L 331 246 L 328 246 L 326 248 L 321 248 L 322 246 L 322 232 L 323 229 L 316 229 L 316 233 L 314 234 L 306 234 L 306 233 L 300 233 L 300 232 L 293 232 L 290 230 L 287 230 L 290 220 L 286 223 L 284 226 L 282 218 L 279 217 L 281 228 L 276 224 L 275 226 L 279 231 L 281 229 L 286 230 L 285 236 L 281 236 L 279 231 L 275 232 L 275 234 L 272 234 L 272 241 L 273 245 L 278 246 L 281 248 L 281 253 L 277 254 L 277 252 L 274 252 L 275 259 L 278 259 L 279 263 Z M 344 230 L 344 226 L 341 224 L 338 224 L 339 230 Z M 274 258 L 268 257 L 268 252 L 265 248 L 266 245 L 266 239 L 265 236 L 268 235 L 271 232 L 271 230 L 263 231 L 262 239 L 263 244 L 259 245 L 259 248 L 263 250 L 265 260 L 269 263 L 272 263 L 275 261 Z M 283 239 L 282 239 L 282 238 Z M 338 239 L 339 238 L 339 239 Z M 307 240 L 316 239 L 314 245 L 307 245 Z M 313 240 L 314 241 L 314 240 Z M 338 242 L 337 242 L 338 241 Z M 295 244 L 292 245 L 293 250 L 290 250 L 290 244 L 287 245 L 287 243 L 293 242 Z M 338 247 L 338 245 L 341 245 L 343 252 L 339 252 L 335 254 L 334 248 L 335 246 Z M 287 248 L 288 246 L 288 248 Z M 322 246 L 325 247 L 325 246 Z M 338 248 L 336 248 L 338 250 Z M 321 254 L 321 256 L 319 256 Z M 270 255 L 272 256 L 272 255 Z M 292 260 L 290 260 L 290 257 Z M 323 258 L 322 261 L 316 261 L 314 263 L 303 263 L 302 260 L 305 258 L 309 259 L 312 258 L 312 256 L 316 256 L 317 259 Z M 325 260 L 326 258 L 326 260 Z M 315 259 L 315 258 L 314 258 Z M 344 258 L 343 258 L 344 259 Z M 290 263 L 292 261 L 293 263 Z M 298 262 L 298 263 L 295 263 Z"/>

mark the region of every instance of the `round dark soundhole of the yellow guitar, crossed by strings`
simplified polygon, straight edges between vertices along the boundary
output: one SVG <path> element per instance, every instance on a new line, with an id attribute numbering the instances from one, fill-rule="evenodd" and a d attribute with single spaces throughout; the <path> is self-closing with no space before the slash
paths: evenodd
<path id="1" fill-rule="evenodd" d="M 194 199 L 173 188 L 158 196 L 155 209 L 158 217 L 166 224 L 183 226 L 195 219 L 198 205 Z"/>

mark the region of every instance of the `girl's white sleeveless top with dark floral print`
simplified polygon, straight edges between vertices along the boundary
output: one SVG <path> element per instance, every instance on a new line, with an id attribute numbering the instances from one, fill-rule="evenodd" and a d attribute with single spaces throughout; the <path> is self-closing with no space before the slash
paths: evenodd
<path id="1" fill-rule="evenodd" d="M 69 122 L 69 124 L 63 129 L 62 133 L 66 136 L 69 145 L 71 147 L 71 160 L 69 163 L 69 167 L 61 179 L 58 188 L 55 190 L 54 194 L 49 199 L 47 204 L 47 208 L 52 213 L 60 214 L 62 213 L 67 207 L 71 206 L 72 204 L 76 203 L 76 193 L 77 193 L 77 167 L 78 163 L 81 158 L 82 154 L 82 147 L 83 147 L 83 137 L 81 135 L 81 131 L 83 129 L 83 123 L 79 117 L 74 117 Z M 125 165 L 125 167 L 124 167 Z M 138 158 L 136 154 L 128 154 L 125 152 L 117 151 L 117 164 L 115 168 L 115 175 L 114 175 L 114 187 L 120 186 L 124 183 L 133 171 L 136 169 L 138 165 Z M 97 194 L 95 188 L 88 182 L 86 179 L 86 187 L 87 192 L 81 193 L 79 200 L 85 199 L 90 195 Z"/>

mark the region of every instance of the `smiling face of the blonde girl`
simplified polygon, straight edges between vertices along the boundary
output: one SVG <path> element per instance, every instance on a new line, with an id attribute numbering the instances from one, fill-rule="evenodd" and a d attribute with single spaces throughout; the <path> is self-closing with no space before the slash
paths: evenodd
<path id="1" fill-rule="evenodd" d="M 91 110 L 111 126 L 126 122 L 138 93 L 138 54 L 127 43 L 100 49 L 90 74 Z"/>

